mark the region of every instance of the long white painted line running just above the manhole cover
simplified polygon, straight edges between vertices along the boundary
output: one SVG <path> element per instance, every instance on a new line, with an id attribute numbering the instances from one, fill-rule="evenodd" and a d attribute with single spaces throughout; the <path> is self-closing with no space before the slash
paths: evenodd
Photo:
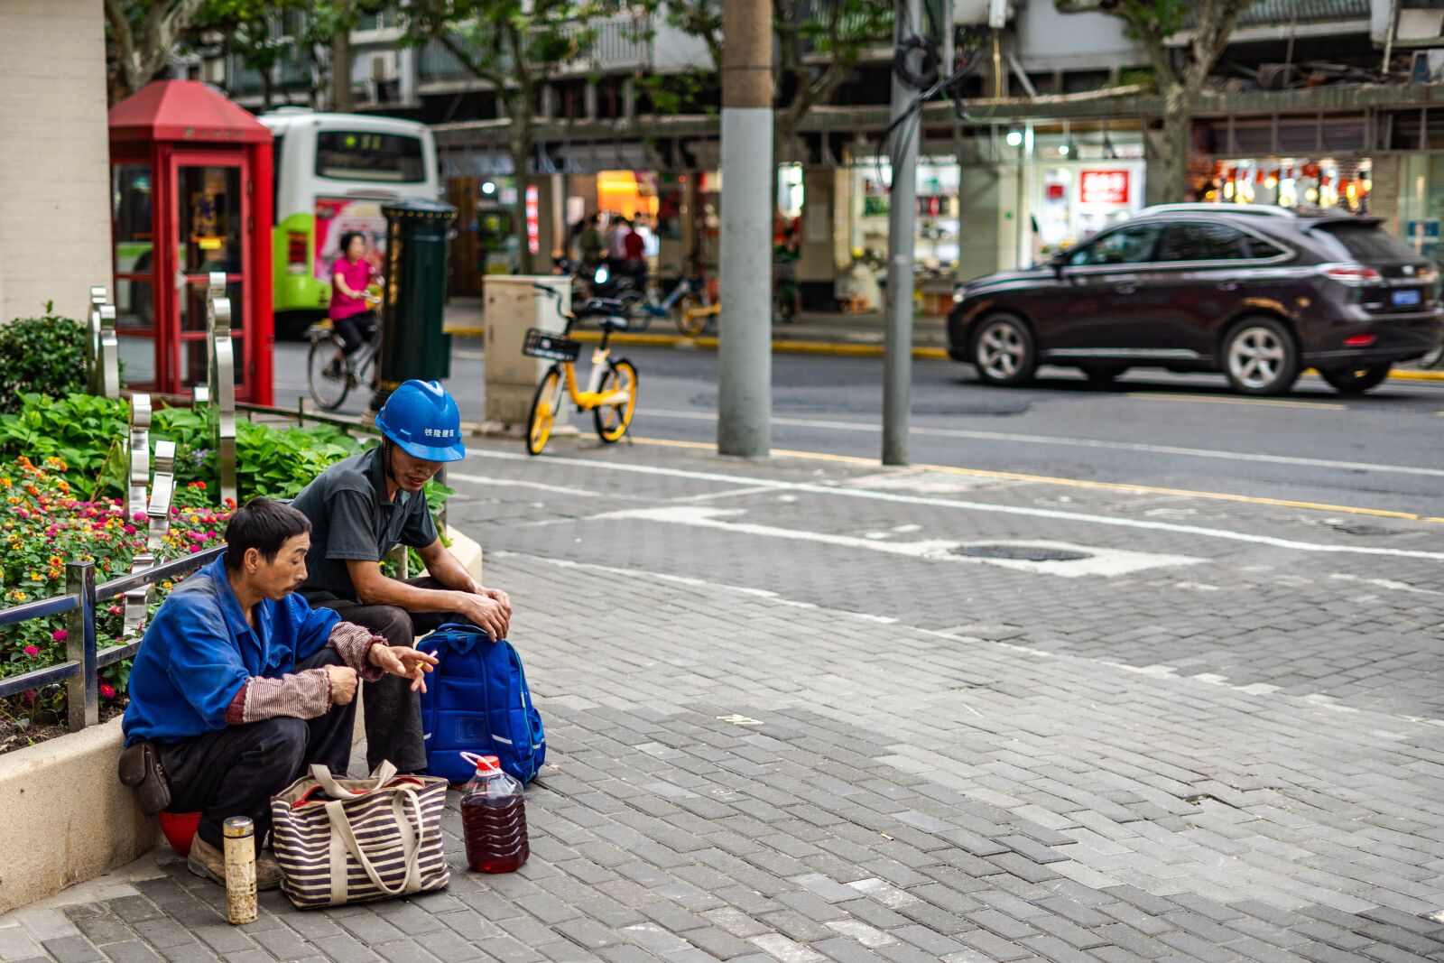
<path id="1" fill-rule="evenodd" d="M 511 452 L 490 452 L 479 448 L 468 448 L 468 455 L 477 458 L 495 458 L 508 462 L 536 462 L 530 455 Z M 1171 521 L 1155 521 L 1151 518 L 1110 518 L 1108 515 L 1093 515 L 1082 511 L 1060 511 L 1057 508 L 1037 508 L 1030 505 L 993 505 L 982 501 L 963 501 L 960 498 L 928 498 L 924 495 L 902 495 L 888 491 L 869 491 L 864 488 L 840 488 L 829 485 L 812 485 L 806 482 L 788 482 L 774 478 L 757 478 L 751 475 L 728 475 L 725 472 L 699 472 L 686 468 L 664 468 L 661 465 L 632 465 L 622 462 L 593 462 L 585 458 L 547 456 L 546 463 L 572 465 L 592 471 L 632 472 L 638 475 L 654 475 L 658 478 L 687 478 L 722 485 L 755 485 L 773 491 L 806 492 L 812 495 L 833 495 L 838 498 L 866 498 L 871 501 L 887 501 L 900 505 L 926 505 L 930 508 L 954 508 L 959 511 L 983 511 L 999 515 L 1022 515 L 1027 518 L 1053 518 L 1057 521 L 1076 521 L 1082 524 L 1110 526 L 1115 528 L 1141 528 L 1147 531 L 1171 531 L 1174 534 L 1199 536 L 1203 539 L 1223 539 L 1226 541 L 1245 541 L 1249 544 L 1265 544 L 1275 549 L 1291 549 L 1294 552 L 1323 552 L 1328 554 L 1373 554 L 1393 559 L 1428 559 L 1430 562 L 1444 562 L 1444 552 L 1421 552 L 1417 549 L 1385 549 L 1375 546 L 1331 546 L 1317 541 L 1298 541 L 1295 539 L 1276 539 L 1274 536 L 1252 534 L 1248 531 L 1232 531 L 1229 528 L 1207 528 L 1204 526 L 1183 526 Z M 458 478 L 449 475 L 449 478 Z"/>

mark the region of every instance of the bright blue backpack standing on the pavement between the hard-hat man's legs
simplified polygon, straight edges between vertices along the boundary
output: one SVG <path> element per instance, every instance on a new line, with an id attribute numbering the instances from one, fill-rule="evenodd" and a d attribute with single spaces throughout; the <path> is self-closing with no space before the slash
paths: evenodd
<path id="1" fill-rule="evenodd" d="M 466 783 L 477 767 L 462 754 L 472 752 L 497 757 L 510 775 L 530 783 L 546 761 L 546 732 L 511 642 L 492 642 L 475 625 L 451 624 L 416 648 L 438 658 L 422 693 L 426 771 Z"/>

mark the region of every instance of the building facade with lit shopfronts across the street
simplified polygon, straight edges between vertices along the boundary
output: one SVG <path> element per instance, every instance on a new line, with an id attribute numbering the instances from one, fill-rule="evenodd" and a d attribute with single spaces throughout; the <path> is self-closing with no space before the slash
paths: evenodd
<path id="1" fill-rule="evenodd" d="M 1444 205 L 1444 10 L 1432 0 L 1261 0 L 1235 32 L 1196 113 L 1191 179 L 1220 204 L 1337 204 L 1382 215 L 1404 235 L 1438 237 Z M 928 104 L 918 130 L 918 287 L 1025 264 L 1158 199 L 1161 103 L 1148 56 L 1123 25 L 1063 14 L 1053 0 L 943 0 L 972 58 L 957 103 Z M 663 273 L 715 269 L 719 127 L 705 104 L 661 111 L 648 84 L 686 88 L 706 46 L 663 16 L 593 22 L 596 42 L 563 65 L 534 104 L 537 146 L 516 172 L 508 118 L 445 46 L 400 45 L 399 26 L 352 35 L 357 110 L 410 116 L 436 131 L 442 173 L 462 206 L 459 292 L 510 270 L 526 235 L 510 201 L 536 188 L 544 250 L 562 250 L 593 211 L 654 221 Z M 1183 46 L 1184 29 L 1173 38 Z M 846 300 L 887 250 L 891 45 L 864 53 L 826 104 L 778 143 L 778 232 L 799 238 L 809 306 Z M 1388 59 L 1389 71 L 1385 71 Z M 234 64 L 230 92 L 260 107 L 260 84 Z M 305 100 L 306 71 L 279 69 L 276 97 Z M 653 78 L 640 82 L 641 78 Z M 1444 104 L 1441 104 L 1444 105 Z M 1435 176 L 1438 167 L 1438 176 Z M 520 175 L 520 176 L 518 176 Z"/>

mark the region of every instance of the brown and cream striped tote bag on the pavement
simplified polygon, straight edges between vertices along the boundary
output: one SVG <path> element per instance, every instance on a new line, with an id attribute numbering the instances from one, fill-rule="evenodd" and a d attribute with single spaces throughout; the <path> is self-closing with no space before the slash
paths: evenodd
<path id="1" fill-rule="evenodd" d="M 365 780 L 323 765 L 271 797 L 271 846 L 282 891 L 302 910 L 443 889 L 446 780 L 396 775 L 383 762 Z"/>

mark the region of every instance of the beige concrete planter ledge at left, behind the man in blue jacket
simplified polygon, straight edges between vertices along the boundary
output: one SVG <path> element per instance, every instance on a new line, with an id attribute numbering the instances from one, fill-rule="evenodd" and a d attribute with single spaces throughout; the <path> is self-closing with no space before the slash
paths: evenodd
<path id="1" fill-rule="evenodd" d="M 120 719 L 0 755 L 0 912 L 124 866 L 159 823 L 120 784 Z"/>

